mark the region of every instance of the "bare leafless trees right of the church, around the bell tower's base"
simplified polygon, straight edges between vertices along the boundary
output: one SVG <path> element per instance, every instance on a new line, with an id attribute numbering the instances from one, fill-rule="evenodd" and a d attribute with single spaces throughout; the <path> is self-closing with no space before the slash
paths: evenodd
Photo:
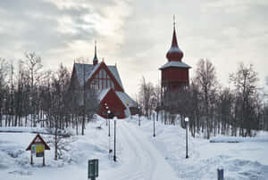
<path id="1" fill-rule="evenodd" d="M 143 78 L 138 94 L 143 113 L 149 117 L 154 110 L 164 124 L 178 123 L 180 114 L 181 127 L 188 117 L 191 134 L 202 133 L 206 138 L 219 134 L 252 136 L 252 130 L 268 130 L 268 92 L 258 86 L 252 64 L 240 63 L 230 74 L 232 88 L 220 85 L 209 60 L 201 59 L 194 70 L 189 86 L 167 94 L 162 94 L 160 85 L 153 86 Z"/>

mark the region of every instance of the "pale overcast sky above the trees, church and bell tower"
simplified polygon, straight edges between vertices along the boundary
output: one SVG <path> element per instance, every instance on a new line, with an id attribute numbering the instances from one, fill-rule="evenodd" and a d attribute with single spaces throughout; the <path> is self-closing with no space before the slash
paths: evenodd
<path id="1" fill-rule="evenodd" d="M 229 86 L 240 61 L 253 63 L 260 86 L 268 76 L 267 0 L 0 0 L 0 57 L 41 56 L 46 69 L 75 58 L 117 64 L 125 91 L 138 93 L 144 76 L 154 84 L 172 44 L 176 16 L 182 61 L 196 70 L 210 59 L 217 77 Z"/>

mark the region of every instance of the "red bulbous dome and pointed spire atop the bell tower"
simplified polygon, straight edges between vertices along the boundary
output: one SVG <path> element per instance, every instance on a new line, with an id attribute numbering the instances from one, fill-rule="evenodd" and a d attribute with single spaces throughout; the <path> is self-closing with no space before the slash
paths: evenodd
<path id="1" fill-rule="evenodd" d="M 173 36 L 172 36 L 172 46 L 170 50 L 166 53 L 166 58 L 168 61 L 181 61 L 183 53 L 177 42 L 176 27 L 175 27 L 175 15 L 173 16 Z"/>

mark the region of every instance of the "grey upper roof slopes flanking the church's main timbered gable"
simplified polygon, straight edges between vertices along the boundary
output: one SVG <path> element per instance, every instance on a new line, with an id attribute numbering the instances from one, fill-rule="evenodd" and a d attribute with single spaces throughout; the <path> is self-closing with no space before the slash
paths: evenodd
<path id="1" fill-rule="evenodd" d="M 79 79 L 80 86 L 84 86 L 84 83 L 88 81 L 89 78 L 96 72 L 101 63 L 96 64 L 83 64 L 83 63 L 74 63 L 77 78 Z M 123 89 L 121 78 L 119 76 L 118 70 L 116 66 L 107 66 L 107 68 L 112 72 L 113 77 L 119 83 L 121 88 Z M 84 82 L 84 70 L 85 70 L 85 82 Z"/>

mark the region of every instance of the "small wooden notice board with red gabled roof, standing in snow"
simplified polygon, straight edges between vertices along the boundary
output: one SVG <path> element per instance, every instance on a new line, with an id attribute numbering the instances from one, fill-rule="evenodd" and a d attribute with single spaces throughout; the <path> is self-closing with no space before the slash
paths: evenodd
<path id="1" fill-rule="evenodd" d="M 43 167 L 45 167 L 45 150 L 50 150 L 41 135 L 37 135 L 31 143 L 29 143 L 26 151 L 30 150 L 30 164 L 33 164 L 33 157 L 43 158 Z"/>

